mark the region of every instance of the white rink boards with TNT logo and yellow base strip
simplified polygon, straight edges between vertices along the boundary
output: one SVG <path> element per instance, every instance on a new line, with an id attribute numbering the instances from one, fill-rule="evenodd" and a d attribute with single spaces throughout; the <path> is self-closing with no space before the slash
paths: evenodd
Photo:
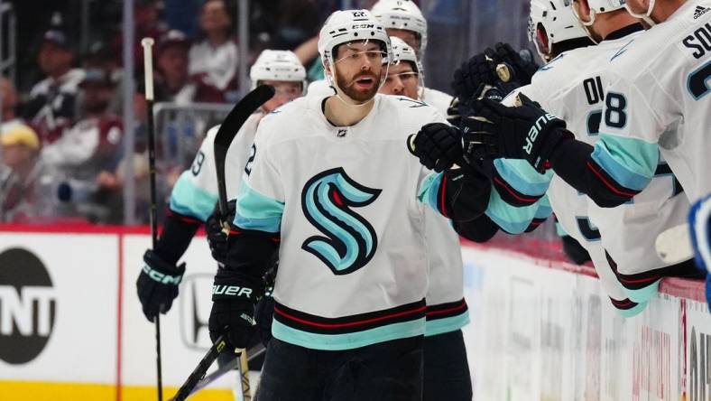
<path id="1" fill-rule="evenodd" d="M 143 229 L 0 228 L 0 399 L 155 399 L 153 325 L 135 296 Z M 711 394 L 701 286 L 676 280 L 640 316 L 616 316 L 589 268 L 463 248 L 475 399 L 700 400 Z M 208 347 L 215 265 L 204 238 L 162 318 L 166 395 Z M 235 378 L 194 399 L 232 400 Z M 167 398 L 166 398 L 167 399 Z M 193 399 L 193 398 L 191 398 Z"/>

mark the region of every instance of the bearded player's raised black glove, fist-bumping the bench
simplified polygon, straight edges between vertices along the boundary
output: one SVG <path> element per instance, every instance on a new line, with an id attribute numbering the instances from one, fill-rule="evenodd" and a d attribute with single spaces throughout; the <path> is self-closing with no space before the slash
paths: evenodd
<path id="1" fill-rule="evenodd" d="M 430 123 L 408 137 L 408 149 L 422 165 L 441 173 L 462 160 L 462 135 L 454 126 Z"/>

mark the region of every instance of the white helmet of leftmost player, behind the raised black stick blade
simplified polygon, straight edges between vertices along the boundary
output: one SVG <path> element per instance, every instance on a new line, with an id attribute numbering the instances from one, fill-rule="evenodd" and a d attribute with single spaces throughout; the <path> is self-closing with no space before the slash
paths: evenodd
<path id="1" fill-rule="evenodd" d="M 300 82 L 306 90 L 306 69 L 293 51 L 265 50 L 249 70 L 252 88 L 263 80 L 286 80 Z"/>

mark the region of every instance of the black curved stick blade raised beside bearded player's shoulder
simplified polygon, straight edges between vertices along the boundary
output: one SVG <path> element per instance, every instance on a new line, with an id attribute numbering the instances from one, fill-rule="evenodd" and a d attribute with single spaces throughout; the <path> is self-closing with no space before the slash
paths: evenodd
<path id="1" fill-rule="evenodd" d="M 219 194 L 219 208 L 223 216 L 227 214 L 227 189 L 225 182 L 225 159 L 227 157 L 227 149 L 232 144 L 232 140 L 239 132 L 240 128 L 245 125 L 245 121 L 259 107 L 262 107 L 269 99 L 274 96 L 274 87 L 270 85 L 260 85 L 253 91 L 247 93 L 245 98 L 239 101 L 229 112 L 225 121 L 217 129 L 215 135 L 215 169 L 217 170 L 217 192 Z"/>

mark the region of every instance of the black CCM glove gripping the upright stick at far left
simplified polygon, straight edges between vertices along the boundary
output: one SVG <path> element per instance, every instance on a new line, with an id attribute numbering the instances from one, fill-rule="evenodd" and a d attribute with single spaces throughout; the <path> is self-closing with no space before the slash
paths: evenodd
<path id="1" fill-rule="evenodd" d="M 153 322 L 159 312 L 165 313 L 171 309 L 173 300 L 178 296 L 178 285 L 185 273 L 185 264 L 173 266 L 150 249 L 143 254 L 143 262 L 136 289 L 145 318 Z"/>

